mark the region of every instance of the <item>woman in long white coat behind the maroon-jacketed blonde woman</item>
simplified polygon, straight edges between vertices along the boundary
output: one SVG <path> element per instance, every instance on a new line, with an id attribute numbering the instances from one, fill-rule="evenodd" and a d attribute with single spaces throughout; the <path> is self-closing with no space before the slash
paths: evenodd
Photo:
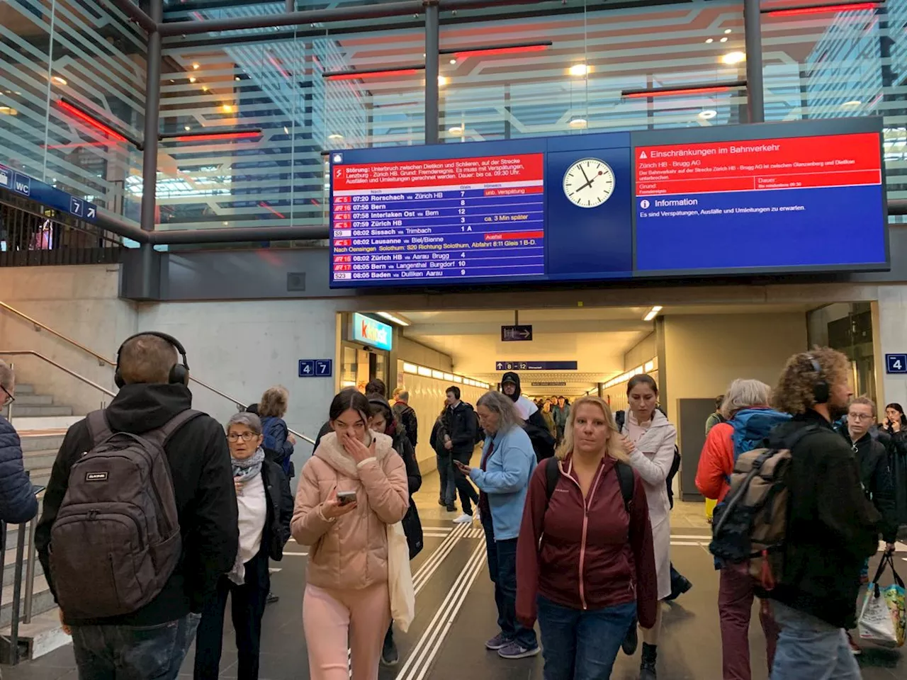
<path id="1" fill-rule="evenodd" d="M 671 524 L 670 500 L 666 480 L 674 463 L 677 428 L 658 410 L 658 385 L 651 375 L 639 374 L 627 384 L 629 411 L 623 425 L 624 449 L 629 462 L 639 472 L 646 500 L 649 501 L 649 521 L 652 524 L 652 544 L 658 572 L 658 599 L 671 594 Z M 661 630 L 661 607 L 655 626 L 642 629 L 642 663 L 639 680 L 656 680 L 655 663 L 658 656 L 658 634 Z M 636 651 L 636 627 L 630 631 L 624 645 L 627 654 Z"/>

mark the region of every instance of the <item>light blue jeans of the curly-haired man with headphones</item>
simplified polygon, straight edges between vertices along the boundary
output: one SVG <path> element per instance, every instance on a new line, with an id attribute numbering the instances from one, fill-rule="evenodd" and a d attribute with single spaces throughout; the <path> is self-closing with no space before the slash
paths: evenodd
<path id="1" fill-rule="evenodd" d="M 772 602 L 781 627 L 772 680 L 860 680 L 844 628 Z"/>

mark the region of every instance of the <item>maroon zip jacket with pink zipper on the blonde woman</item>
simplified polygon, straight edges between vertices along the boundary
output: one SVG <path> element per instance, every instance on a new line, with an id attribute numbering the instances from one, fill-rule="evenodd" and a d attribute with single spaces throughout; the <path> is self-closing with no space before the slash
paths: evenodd
<path id="1" fill-rule="evenodd" d="M 553 463 L 553 459 L 550 461 Z M 658 579 L 646 491 L 637 472 L 629 515 L 614 460 L 605 456 L 582 498 L 571 459 L 551 502 L 545 493 L 545 465 L 529 481 L 516 557 L 516 616 L 525 627 L 536 618 L 536 597 L 561 607 L 601 609 L 636 599 L 643 627 L 655 625 Z M 546 507 L 547 506 L 547 507 Z"/>

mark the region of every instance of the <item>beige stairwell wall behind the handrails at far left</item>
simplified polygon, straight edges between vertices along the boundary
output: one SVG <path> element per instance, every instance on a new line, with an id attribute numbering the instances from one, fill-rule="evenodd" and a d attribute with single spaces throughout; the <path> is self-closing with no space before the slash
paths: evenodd
<path id="1" fill-rule="evenodd" d="M 0 300 L 35 321 L 115 358 L 117 348 L 136 332 L 136 306 L 117 296 L 120 270 L 116 265 L 79 267 L 0 267 Z M 7 311 L 0 311 L 0 349 L 34 350 L 113 392 L 113 369 L 58 337 Z M 6 357 L 9 359 L 10 357 Z M 73 406 L 83 415 L 110 397 L 34 357 L 13 357 L 20 383 L 51 393 L 57 403 Z"/>

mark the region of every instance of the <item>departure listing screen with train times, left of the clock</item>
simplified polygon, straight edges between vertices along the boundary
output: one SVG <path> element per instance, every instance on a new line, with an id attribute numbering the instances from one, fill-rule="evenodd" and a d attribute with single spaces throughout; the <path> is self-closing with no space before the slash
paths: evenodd
<path id="1" fill-rule="evenodd" d="M 542 277 L 543 166 L 541 153 L 335 162 L 334 282 Z"/>

